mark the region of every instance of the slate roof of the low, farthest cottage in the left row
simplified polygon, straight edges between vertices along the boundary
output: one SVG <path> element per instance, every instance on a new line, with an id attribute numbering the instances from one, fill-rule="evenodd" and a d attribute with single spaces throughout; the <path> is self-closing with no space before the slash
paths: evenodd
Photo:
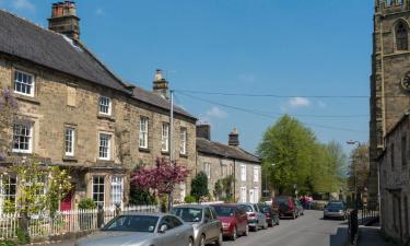
<path id="1" fill-rule="evenodd" d="M 260 164 L 260 159 L 241 148 L 230 147 L 219 142 L 209 141 L 204 138 L 197 138 L 197 150 L 204 154 L 216 155 L 227 159 L 236 159 L 241 161 Z"/>

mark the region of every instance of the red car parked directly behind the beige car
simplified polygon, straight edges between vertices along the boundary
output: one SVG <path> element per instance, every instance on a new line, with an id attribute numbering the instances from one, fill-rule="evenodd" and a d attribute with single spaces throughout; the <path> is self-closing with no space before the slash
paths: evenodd
<path id="1" fill-rule="evenodd" d="M 223 235 L 235 241 L 238 235 L 249 234 L 246 211 L 237 204 L 213 204 L 218 220 L 222 222 Z"/>

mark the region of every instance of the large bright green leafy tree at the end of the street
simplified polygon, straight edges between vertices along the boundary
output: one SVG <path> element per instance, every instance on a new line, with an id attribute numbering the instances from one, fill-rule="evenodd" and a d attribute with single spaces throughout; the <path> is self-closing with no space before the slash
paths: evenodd
<path id="1" fill-rule="evenodd" d="M 314 132 L 290 116 L 269 127 L 258 147 L 268 187 L 279 194 L 332 192 L 338 190 L 339 149 L 317 141 Z"/>

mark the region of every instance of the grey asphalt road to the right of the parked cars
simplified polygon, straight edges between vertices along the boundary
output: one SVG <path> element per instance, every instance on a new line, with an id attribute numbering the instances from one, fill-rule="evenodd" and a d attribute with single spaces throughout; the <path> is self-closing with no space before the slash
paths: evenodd
<path id="1" fill-rule="evenodd" d="M 321 219 L 323 212 L 305 211 L 297 220 L 281 220 L 279 226 L 251 232 L 235 242 L 225 241 L 224 246 L 344 246 L 347 224 L 342 221 Z M 52 246 L 73 246 L 66 242 Z"/>

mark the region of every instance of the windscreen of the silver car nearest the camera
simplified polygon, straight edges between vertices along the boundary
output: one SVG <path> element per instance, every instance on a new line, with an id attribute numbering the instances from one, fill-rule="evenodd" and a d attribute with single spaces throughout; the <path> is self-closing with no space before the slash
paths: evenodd
<path id="1" fill-rule="evenodd" d="M 153 233 L 157 221 L 159 216 L 154 215 L 120 215 L 112 220 L 103 231 Z"/>

